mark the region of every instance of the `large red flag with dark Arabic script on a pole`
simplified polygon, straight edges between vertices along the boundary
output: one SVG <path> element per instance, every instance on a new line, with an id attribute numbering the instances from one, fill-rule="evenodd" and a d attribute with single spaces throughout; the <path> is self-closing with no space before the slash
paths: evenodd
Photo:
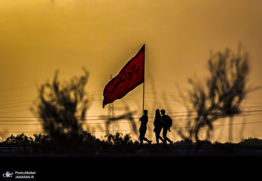
<path id="1" fill-rule="evenodd" d="M 103 107 L 114 100 L 123 98 L 128 92 L 144 82 L 145 72 L 145 45 L 134 56 L 117 76 L 105 85 L 103 89 Z"/>

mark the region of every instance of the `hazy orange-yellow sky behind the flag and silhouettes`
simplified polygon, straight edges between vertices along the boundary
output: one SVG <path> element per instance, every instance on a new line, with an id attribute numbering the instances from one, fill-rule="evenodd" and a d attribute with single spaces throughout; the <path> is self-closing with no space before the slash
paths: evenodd
<path id="1" fill-rule="evenodd" d="M 187 80 L 208 75 L 210 50 L 237 50 L 239 41 L 250 53 L 252 72 L 250 87 L 261 84 L 262 67 L 262 2 L 257 0 L 176 0 L 176 1 L 83 1 L 39 0 L 0 1 L 0 118 L 1 120 L 35 120 L 28 109 L 37 96 L 36 85 L 45 83 L 59 69 L 61 80 L 90 72 L 86 92 L 93 98 L 87 116 L 107 115 L 102 109 L 103 87 L 110 74 L 115 76 L 145 44 L 145 109 L 166 109 L 174 119 L 176 111 L 185 111 L 176 85 L 183 92 L 190 88 Z M 125 114 L 125 105 L 142 109 L 143 86 L 137 87 L 114 103 L 116 115 Z M 261 90 L 243 101 L 245 110 L 262 106 Z M 256 106 L 256 107 L 253 107 Z M 248 107 L 248 108 L 247 108 Z M 8 113 L 6 113 L 8 112 Z M 258 112 L 261 113 L 261 112 Z M 261 121 L 261 115 L 247 116 L 246 122 Z M 90 117 L 91 118 L 91 117 Z M 90 120 L 88 123 L 103 123 Z M 138 121 L 138 119 L 136 120 Z M 150 118 L 153 121 L 153 118 Z M 242 123 L 243 117 L 234 123 Z M 117 124 L 122 133 L 129 133 L 126 120 Z M 7 124 L 16 125 L 7 125 Z M 0 131 L 41 131 L 37 122 L 0 122 Z M 216 125 L 228 124 L 228 119 Z M 137 123 L 139 127 L 139 123 Z M 153 128 L 152 122 L 148 123 Z M 92 124 L 90 130 L 101 138 L 104 124 Z M 242 137 L 262 138 L 262 123 L 234 125 L 234 141 Z M 94 132 L 96 131 L 96 132 Z M 172 134 L 172 135 L 171 135 Z M 154 142 L 152 131 L 148 137 Z M 137 139 L 132 132 L 132 138 Z M 175 131 L 172 140 L 181 138 Z M 228 127 L 215 127 L 213 141 L 227 141 Z"/>

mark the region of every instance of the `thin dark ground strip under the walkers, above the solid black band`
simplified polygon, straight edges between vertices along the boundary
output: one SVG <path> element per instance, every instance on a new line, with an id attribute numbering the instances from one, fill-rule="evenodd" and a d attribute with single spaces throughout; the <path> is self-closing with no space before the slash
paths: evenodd
<path id="1" fill-rule="evenodd" d="M 34 153 L 32 147 L 0 147 L 0 158 L 198 158 L 262 157 L 262 147 L 143 145 L 126 149 L 110 147 L 105 151 L 84 153 Z"/>

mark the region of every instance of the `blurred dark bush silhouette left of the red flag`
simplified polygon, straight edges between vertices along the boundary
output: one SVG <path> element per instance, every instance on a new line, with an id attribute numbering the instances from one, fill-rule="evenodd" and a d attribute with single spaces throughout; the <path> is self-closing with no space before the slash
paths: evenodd
<path id="1" fill-rule="evenodd" d="M 55 147 L 69 149 L 81 142 L 79 135 L 88 108 L 85 85 L 89 76 L 84 67 L 83 71 L 83 76 L 74 76 L 63 83 L 58 80 L 57 71 L 52 83 L 47 82 L 39 89 L 37 106 L 32 108 L 32 112 L 40 118 L 43 131 L 50 136 Z"/>

